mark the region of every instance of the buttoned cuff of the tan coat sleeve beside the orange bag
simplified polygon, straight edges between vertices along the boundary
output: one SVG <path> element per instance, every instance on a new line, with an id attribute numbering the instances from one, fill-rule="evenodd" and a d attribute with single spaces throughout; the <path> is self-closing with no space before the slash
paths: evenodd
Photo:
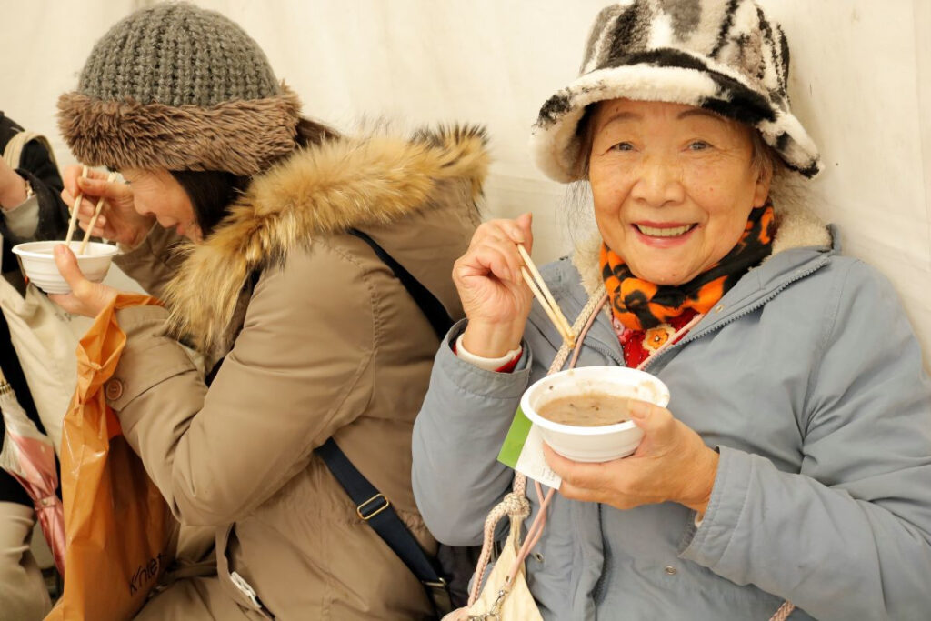
<path id="1" fill-rule="evenodd" d="M 168 311 L 161 306 L 133 306 L 116 311 L 126 345 L 113 377 L 107 381 L 107 403 L 120 412 L 133 399 L 169 377 L 196 366 L 182 345 L 164 335 Z"/>

